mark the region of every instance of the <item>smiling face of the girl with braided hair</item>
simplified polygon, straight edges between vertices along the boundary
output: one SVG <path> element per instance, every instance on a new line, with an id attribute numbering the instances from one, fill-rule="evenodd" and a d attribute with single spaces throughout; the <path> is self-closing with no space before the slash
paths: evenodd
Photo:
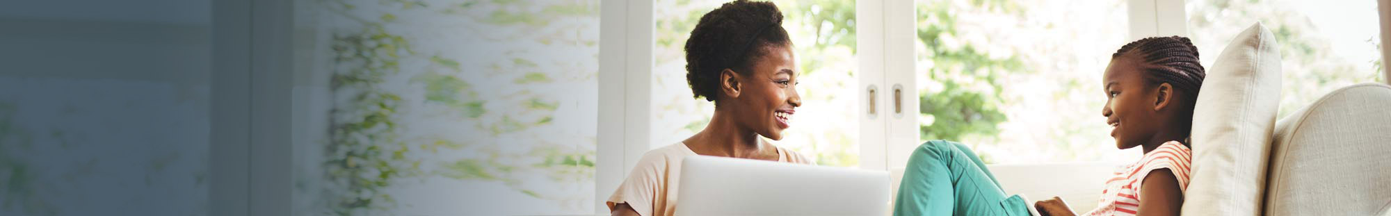
<path id="1" fill-rule="evenodd" d="M 1120 150 L 1148 143 L 1160 126 L 1157 87 L 1143 78 L 1142 71 L 1134 57 L 1120 55 L 1111 60 L 1102 76 L 1106 90 L 1102 116 L 1111 126 L 1111 137 Z"/>

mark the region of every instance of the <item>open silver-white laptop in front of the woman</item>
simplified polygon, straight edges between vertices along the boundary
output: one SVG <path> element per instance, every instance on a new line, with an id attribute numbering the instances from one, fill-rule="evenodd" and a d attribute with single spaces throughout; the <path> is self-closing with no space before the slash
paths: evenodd
<path id="1" fill-rule="evenodd" d="M 676 216 L 885 216 L 889 173 L 722 156 L 682 161 Z"/>

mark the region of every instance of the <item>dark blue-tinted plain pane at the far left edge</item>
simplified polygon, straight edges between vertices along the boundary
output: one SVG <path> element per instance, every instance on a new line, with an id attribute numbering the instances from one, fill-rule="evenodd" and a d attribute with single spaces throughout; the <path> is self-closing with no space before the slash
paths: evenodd
<path id="1" fill-rule="evenodd" d="M 0 7 L 0 215 L 209 213 L 210 3 Z"/>

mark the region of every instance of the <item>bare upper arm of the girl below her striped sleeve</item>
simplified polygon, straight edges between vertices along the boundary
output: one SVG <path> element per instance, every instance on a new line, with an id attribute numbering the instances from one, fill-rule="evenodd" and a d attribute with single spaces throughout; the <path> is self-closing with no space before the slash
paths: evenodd
<path id="1" fill-rule="evenodd" d="M 1184 205 L 1178 179 L 1168 169 L 1150 170 L 1141 181 L 1139 191 L 1138 216 L 1177 216 L 1178 208 Z"/>

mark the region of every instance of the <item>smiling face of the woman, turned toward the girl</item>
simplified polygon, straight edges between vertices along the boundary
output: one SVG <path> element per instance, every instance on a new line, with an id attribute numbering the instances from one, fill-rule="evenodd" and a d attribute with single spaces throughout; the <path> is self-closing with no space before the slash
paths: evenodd
<path id="1" fill-rule="evenodd" d="M 740 104 L 736 119 L 747 129 L 782 140 L 782 132 L 791 127 L 791 116 L 801 107 L 797 96 L 797 60 L 789 46 L 765 47 L 766 54 L 751 66 L 751 76 L 740 76 Z"/>

